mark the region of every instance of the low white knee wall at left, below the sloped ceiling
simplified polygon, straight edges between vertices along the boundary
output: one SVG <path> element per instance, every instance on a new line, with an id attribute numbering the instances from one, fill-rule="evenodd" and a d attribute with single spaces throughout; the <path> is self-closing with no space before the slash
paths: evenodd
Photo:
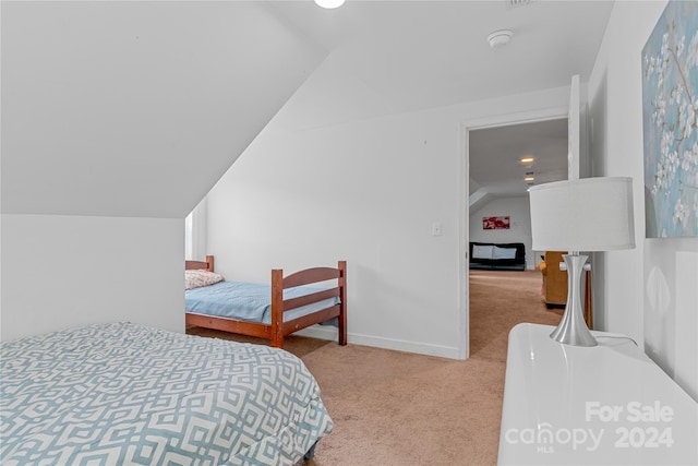
<path id="1" fill-rule="evenodd" d="M 131 321 L 184 328 L 184 220 L 2 215 L 0 338 Z"/>

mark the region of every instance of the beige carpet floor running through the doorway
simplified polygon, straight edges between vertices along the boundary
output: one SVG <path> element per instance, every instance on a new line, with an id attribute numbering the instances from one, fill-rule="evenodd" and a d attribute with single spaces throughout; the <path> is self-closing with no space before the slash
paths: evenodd
<path id="1" fill-rule="evenodd" d="M 286 349 L 315 375 L 335 421 L 306 465 L 495 464 L 508 332 L 519 322 L 557 324 L 562 313 L 545 308 L 540 289 L 537 271 L 471 271 L 466 361 L 289 337 Z"/>

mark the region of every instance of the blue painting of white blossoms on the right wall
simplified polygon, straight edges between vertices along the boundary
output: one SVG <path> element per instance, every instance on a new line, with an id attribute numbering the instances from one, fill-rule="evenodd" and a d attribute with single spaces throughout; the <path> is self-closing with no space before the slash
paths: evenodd
<path id="1" fill-rule="evenodd" d="M 642 49 L 647 238 L 698 236 L 698 2 L 670 1 Z"/>

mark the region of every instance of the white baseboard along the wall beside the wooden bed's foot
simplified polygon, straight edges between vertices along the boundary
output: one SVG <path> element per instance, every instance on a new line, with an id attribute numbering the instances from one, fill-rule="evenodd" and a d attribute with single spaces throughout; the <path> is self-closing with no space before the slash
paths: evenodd
<path id="1" fill-rule="evenodd" d="M 332 325 L 313 325 L 296 332 L 296 335 L 311 338 L 337 340 L 337 328 Z M 370 335 L 348 333 L 347 340 L 353 345 L 372 346 L 396 351 L 416 353 L 418 355 L 436 356 L 440 358 L 461 359 L 458 348 L 450 346 L 433 345 L 430 343 L 407 342 L 404 339 L 384 338 Z"/>

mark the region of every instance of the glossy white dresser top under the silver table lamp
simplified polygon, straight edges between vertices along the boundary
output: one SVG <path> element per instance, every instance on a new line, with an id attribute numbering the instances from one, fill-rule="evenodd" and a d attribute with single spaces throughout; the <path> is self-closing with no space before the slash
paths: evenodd
<path id="1" fill-rule="evenodd" d="M 500 465 L 698 465 L 698 404 L 629 338 L 509 333 Z"/>

